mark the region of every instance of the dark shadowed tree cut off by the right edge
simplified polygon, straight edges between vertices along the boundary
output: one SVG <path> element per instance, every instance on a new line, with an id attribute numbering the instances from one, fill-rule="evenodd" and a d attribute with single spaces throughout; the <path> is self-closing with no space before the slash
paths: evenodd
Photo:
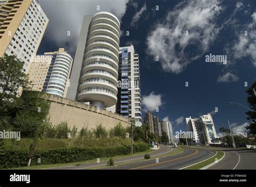
<path id="1" fill-rule="evenodd" d="M 250 109 L 254 111 L 245 112 L 248 115 L 247 119 L 251 120 L 251 124 L 245 128 L 250 130 L 250 133 L 252 134 L 256 134 L 256 96 L 254 91 L 256 91 L 256 81 L 254 81 L 251 87 L 246 90 L 246 93 L 249 95 L 247 97 L 247 103 L 249 104 Z"/>

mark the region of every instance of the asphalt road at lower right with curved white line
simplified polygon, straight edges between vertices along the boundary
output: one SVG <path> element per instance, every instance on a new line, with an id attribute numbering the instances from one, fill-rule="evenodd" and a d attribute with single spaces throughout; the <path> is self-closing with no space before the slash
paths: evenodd
<path id="1" fill-rule="evenodd" d="M 208 169 L 256 169 L 256 152 L 253 150 L 221 149 L 223 160 Z"/>

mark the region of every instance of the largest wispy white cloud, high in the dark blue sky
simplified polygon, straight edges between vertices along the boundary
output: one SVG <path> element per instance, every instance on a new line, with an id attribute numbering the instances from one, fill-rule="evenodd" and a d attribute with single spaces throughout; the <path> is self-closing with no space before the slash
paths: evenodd
<path id="1" fill-rule="evenodd" d="M 219 11 L 214 11 L 215 5 Z M 178 4 L 164 23 L 157 24 L 148 35 L 147 52 L 159 57 L 163 70 L 180 73 L 188 63 L 204 54 L 217 37 L 221 28 L 215 26 L 215 20 L 220 12 L 218 0 Z"/>

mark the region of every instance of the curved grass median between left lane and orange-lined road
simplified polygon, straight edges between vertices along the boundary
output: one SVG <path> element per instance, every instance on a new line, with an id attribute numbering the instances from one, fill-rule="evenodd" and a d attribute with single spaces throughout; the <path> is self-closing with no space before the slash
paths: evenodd
<path id="1" fill-rule="evenodd" d="M 159 156 L 152 156 L 151 159 L 143 159 L 143 160 L 140 160 L 140 161 L 139 160 L 127 161 L 127 162 L 121 162 L 121 163 L 114 164 L 114 166 L 98 166 L 98 167 L 85 168 L 85 169 L 104 169 L 104 168 L 107 168 L 107 167 L 122 166 L 124 164 L 129 164 L 129 163 L 145 162 L 145 161 L 149 161 L 149 160 L 154 160 L 156 158 L 160 159 L 160 158 L 163 158 L 163 157 L 166 157 L 166 156 L 177 155 L 177 154 L 180 154 L 180 153 L 183 153 L 183 152 L 184 152 L 184 148 L 183 147 L 178 147 L 176 150 L 174 150 L 171 153 L 167 153 L 167 154 L 159 155 Z"/>

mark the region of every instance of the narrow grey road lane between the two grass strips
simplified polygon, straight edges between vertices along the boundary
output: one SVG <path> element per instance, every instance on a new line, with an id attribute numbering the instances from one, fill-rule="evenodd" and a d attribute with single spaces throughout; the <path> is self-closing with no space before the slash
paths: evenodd
<path id="1" fill-rule="evenodd" d="M 173 151 L 173 148 L 170 148 L 170 146 L 163 146 L 163 145 L 159 145 L 159 149 L 155 150 L 152 153 L 149 153 L 150 156 L 161 156 L 161 155 L 165 155 L 165 154 L 169 154 Z M 144 159 L 144 154 L 141 155 L 134 155 L 134 156 L 128 156 L 128 157 L 123 157 L 120 159 L 114 159 L 114 163 L 122 163 L 122 162 L 129 162 L 129 161 L 141 161 L 141 160 L 145 160 Z M 95 163 L 88 163 L 88 164 L 80 164 L 79 166 L 65 166 L 65 167 L 56 167 L 56 168 L 48 168 L 48 169 L 90 169 L 90 168 L 95 168 L 95 167 L 102 167 L 102 166 L 106 166 L 107 161 L 102 161 L 97 163 L 96 159 L 95 159 Z"/>

